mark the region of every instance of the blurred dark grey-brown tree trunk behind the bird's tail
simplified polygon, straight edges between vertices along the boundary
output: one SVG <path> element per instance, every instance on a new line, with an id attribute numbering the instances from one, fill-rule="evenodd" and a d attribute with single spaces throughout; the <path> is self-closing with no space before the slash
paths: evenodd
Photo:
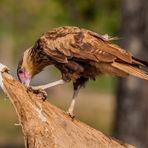
<path id="1" fill-rule="evenodd" d="M 148 1 L 123 0 L 121 46 L 148 61 Z M 129 77 L 117 85 L 114 134 L 139 148 L 148 148 L 148 82 Z"/>

